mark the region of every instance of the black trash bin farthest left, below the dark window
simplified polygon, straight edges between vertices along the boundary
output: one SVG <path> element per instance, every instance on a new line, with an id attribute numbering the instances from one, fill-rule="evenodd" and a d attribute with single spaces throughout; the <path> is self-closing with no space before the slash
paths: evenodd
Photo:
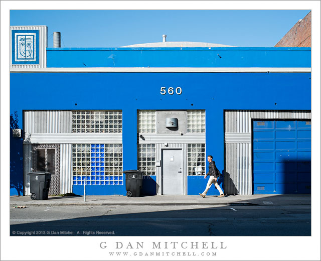
<path id="1" fill-rule="evenodd" d="M 48 199 L 50 188 L 51 173 L 44 171 L 30 172 L 30 198 L 32 200 Z"/>

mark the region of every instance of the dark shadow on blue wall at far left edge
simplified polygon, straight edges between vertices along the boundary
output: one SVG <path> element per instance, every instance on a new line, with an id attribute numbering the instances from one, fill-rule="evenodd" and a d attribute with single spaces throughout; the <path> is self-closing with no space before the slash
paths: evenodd
<path id="1" fill-rule="evenodd" d="M 22 196 L 24 184 L 23 138 L 13 137 L 13 129 L 19 128 L 18 113 L 10 115 L 10 195 Z"/>

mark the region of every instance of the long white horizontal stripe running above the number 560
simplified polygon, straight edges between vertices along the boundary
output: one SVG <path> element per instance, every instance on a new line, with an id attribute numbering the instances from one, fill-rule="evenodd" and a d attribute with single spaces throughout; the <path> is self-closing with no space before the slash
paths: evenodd
<path id="1" fill-rule="evenodd" d="M 86 67 L 86 68 L 11 68 L 10 72 L 311 72 L 311 68 L 273 67 Z"/>

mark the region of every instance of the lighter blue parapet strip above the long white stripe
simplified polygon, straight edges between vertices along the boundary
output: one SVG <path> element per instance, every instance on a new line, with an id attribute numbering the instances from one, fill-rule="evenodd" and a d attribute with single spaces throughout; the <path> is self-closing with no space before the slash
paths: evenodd
<path id="1" fill-rule="evenodd" d="M 47 67 L 310 67 L 311 48 L 47 48 Z"/>

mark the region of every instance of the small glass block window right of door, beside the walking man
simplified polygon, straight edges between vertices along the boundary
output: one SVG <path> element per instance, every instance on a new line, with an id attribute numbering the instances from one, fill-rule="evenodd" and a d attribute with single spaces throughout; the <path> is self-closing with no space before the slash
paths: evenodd
<path id="1" fill-rule="evenodd" d="M 187 145 L 187 168 L 188 175 L 206 174 L 205 144 Z"/>

